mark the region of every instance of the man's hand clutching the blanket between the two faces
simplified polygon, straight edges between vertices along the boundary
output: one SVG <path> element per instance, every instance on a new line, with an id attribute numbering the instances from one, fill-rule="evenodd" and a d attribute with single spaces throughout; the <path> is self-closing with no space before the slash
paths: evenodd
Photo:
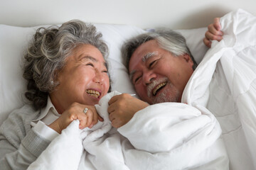
<path id="1" fill-rule="evenodd" d="M 148 103 L 134 98 L 129 94 L 113 96 L 109 101 L 109 105 L 107 112 L 110 114 L 110 121 L 114 128 L 125 125 L 137 111 L 149 106 Z"/>

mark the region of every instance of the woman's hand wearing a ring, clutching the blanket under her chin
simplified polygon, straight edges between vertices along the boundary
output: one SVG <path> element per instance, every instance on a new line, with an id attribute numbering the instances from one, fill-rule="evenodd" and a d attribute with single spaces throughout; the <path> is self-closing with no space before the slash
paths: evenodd
<path id="1" fill-rule="evenodd" d="M 88 108 L 87 113 L 83 113 L 84 109 Z M 67 128 L 73 120 L 80 120 L 79 128 L 92 128 L 98 120 L 103 121 L 103 118 L 97 114 L 95 106 L 82 105 L 73 103 L 66 111 L 60 115 L 60 118 L 49 125 L 50 128 L 60 133 Z"/>

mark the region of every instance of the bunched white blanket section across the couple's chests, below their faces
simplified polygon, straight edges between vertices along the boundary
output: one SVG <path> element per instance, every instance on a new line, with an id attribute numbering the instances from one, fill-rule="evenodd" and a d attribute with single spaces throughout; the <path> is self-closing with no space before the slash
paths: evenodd
<path id="1" fill-rule="evenodd" d="M 104 118 L 92 130 L 73 121 L 28 169 L 228 169 L 218 121 L 205 108 L 161 103 L 111 128 L 107 102 L 96 106 Z"/>

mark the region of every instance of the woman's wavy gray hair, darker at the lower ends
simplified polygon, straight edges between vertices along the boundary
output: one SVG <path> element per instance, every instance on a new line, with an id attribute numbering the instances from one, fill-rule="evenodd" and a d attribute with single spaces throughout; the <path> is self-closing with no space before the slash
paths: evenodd
<path id="1" fill-rule="evenodd" d="M 48 94 L 58 86 L 58 72 L 75 47 L 97 47 L 106 59 L 109 50 L 95 26 L 73 20 L 62 26 L 38 28 L 23 56 L 23 77 L 28 81 L 26 98 L 36 110 L 46 107 Z"/>

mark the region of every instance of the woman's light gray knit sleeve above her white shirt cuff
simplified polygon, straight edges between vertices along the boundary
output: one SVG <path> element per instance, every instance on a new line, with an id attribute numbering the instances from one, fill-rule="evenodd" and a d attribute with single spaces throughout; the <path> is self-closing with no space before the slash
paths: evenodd
<path id="1" fill-rule="evenodd" d="M 31 130 L 29 122 L 37 113 L 21 108 L 9 115 L 0 128 L 1 169 L 27 169 L 50 144 Z"/>

